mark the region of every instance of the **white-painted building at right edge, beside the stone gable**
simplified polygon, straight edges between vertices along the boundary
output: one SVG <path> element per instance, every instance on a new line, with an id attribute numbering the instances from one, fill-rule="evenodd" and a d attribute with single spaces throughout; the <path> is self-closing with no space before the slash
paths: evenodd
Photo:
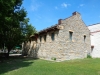
<path id="1" fill-rule="evenodd" d="M 100 23 L 88 26 L 91 33 L 91 56 L 100 58 Z"/>

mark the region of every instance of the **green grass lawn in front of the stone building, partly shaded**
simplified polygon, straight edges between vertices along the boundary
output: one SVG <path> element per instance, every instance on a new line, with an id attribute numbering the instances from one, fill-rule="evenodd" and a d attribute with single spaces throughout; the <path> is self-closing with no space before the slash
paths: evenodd
<path id="1" fill-rule="evenodd" d="M 54 62 L 10 58 L 0 62 L 0 75 L 100 75 L 100 59 Z"/>

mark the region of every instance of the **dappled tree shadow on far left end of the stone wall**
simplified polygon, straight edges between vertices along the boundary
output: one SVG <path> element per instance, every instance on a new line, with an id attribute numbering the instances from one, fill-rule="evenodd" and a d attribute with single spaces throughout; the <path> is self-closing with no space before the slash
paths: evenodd
<path id="1" fill-rule="evenodd" d="M 38 58 L 39 46 L 40 45 L 37 45 L 36 41 L 25 42 L 23 44 L 22 55 L 32 57 L 32 58 Z"/>

